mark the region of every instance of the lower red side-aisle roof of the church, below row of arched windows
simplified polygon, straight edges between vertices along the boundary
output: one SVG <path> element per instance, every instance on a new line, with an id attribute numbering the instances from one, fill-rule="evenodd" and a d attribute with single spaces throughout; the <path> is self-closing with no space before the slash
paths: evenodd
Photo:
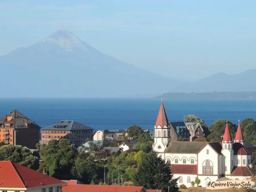
<path id="1" fill-rule="evenodd" d="M 173 174 L 197 174 L 197 165 L 171 164 L 170 168 Z"/>

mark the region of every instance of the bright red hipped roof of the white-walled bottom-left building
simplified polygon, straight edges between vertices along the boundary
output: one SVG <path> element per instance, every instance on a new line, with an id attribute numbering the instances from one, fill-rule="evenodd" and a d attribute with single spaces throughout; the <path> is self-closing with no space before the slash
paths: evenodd
<path id="1" fill-rule="evenodd" d="M 11 161 L 0 161 L 0 180 L 2 181 L 0 183 L 1 188 L 31 188 L 66 184 L 58 179 Z"/>

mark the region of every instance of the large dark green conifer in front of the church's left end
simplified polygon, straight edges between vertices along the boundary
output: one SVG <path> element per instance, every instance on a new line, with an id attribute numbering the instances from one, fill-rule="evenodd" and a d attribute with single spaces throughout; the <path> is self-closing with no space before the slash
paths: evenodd
<path id="1" fill-rule="evenodd" d="M 151 151 L 142 159 L 138 172 L 134 175 L 134 184 L 146 189 L 162 189 L 164 191 L 178 191 L 177 179 L 172 179 L 170 164 Z"/>

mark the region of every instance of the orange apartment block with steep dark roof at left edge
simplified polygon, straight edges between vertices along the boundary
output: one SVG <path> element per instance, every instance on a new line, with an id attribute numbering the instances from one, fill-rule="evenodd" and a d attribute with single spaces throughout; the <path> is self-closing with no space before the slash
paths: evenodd
<path id="1" fill-rule="evenodd" d="M 0 142 L 35 149 L 39 143 L 40 126 L 13 110 L 0 120 Z"/>

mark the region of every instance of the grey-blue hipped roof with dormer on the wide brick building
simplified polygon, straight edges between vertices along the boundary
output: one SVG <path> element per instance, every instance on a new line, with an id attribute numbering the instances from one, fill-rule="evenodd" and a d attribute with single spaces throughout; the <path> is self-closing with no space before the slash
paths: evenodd
<path id="1" fill-rule="evenodd" d="M 57 128 L 58 126 L 63 126 L 64 128 Z M 68 121 L 68 120 L 63 120 L 60 121 L 57 124 L 44 127 L 41 130 L 55 130 L 55 131 L 74 131 L 74 130 L 93 130 L 91 127 L 87 125 L 83 125 L 81 123 L 78 123 L 76 121 Z"/>

